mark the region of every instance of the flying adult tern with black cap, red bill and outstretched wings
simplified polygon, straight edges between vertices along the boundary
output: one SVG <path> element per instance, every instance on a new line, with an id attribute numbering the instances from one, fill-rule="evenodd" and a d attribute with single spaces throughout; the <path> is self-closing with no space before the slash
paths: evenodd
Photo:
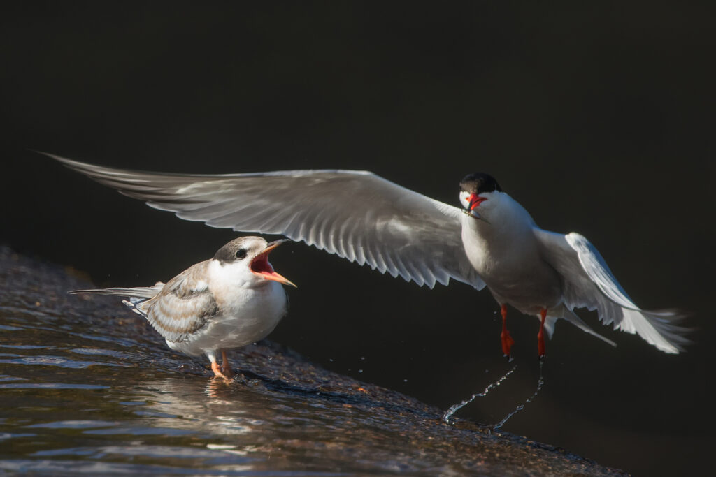
<path id="1" fill-rule="evenodd" d="M 70 169 L 185 220 L 281 234 L 418 285 L 450 278 L 487 286 L 500 305 L 501 343 L 513 339 L 506 305 L 540 320 L 538 355 L 563 319 L 606 343 L 574 313 L 596 310 L 605 325 L 637 333 L 665 353 L 689 343 L 674 310 L 637 307 L 596 248 L 578 233 L 537 227 L 488 174 L 460 182 L 461 210 L 366 171 L 167 174 L 101 167 L 47 154 Z"/>

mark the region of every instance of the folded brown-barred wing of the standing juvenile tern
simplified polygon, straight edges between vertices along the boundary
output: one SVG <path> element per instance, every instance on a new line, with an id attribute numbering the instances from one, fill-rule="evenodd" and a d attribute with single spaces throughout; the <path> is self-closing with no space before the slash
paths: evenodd
<path id="1" fill-rule="evenodd" d="M 218 312 L 207 283 L 197 278 L 207 265 L 208 261 L 189 267 L 169 280 L 158 295 L 135 304 L 165 340 L 184 340 Z"/>

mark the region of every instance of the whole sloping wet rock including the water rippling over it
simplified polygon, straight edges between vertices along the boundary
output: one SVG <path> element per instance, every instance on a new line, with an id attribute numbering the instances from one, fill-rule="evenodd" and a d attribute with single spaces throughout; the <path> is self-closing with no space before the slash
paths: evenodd
<path id="1" fill-rule="evenodd" d="M 264 341 L 211 379 L 73 270 L 0 248 L 0 469 L 202 475 L 624 475 Z"/>

